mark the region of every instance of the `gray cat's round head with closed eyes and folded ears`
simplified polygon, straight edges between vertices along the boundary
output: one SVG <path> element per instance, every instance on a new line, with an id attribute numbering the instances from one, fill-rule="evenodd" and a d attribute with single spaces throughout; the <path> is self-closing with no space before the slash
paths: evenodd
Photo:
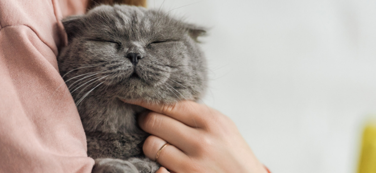
<path id="1" fill-rule="evenodd" d="M 63 21 L 60 73 L 76 103 L 87 95 L 153 102 L 197 100 L 206 88 L 205 33 L 162 12 L 100 6 Z"/>

